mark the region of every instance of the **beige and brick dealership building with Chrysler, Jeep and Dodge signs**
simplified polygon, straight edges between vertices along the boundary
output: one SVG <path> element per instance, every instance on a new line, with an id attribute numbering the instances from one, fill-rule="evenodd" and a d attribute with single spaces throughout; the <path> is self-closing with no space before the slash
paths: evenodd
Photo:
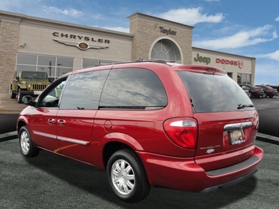
<path id="1" fill-rule="evenodd" d="M 130 33 L 123 33 L 0 10 L 0 93 L 8 93 L 15 71 L 56 78 L 98 63 L 137 59 L 211 65 L 239 84 L 254 83 L 255 58 L 193 47 L 193 26 L 142 13 L 128 19 Z"/>

